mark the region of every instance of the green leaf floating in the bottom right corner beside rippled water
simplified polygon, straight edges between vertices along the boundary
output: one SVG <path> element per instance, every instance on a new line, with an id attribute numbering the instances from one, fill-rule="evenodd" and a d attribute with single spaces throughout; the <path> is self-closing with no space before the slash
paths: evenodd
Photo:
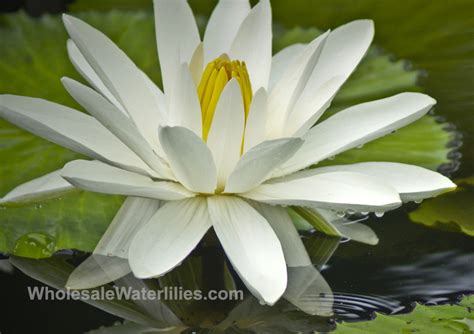
<path id="1" fill-rule="evenodd" d="M 336 334 L 371 333 L 472 333 L 474 297 L 465 297 L 458 305 L 417 305 L 409 314 L 377 314 L 375 320 L 338 324 Z"/>

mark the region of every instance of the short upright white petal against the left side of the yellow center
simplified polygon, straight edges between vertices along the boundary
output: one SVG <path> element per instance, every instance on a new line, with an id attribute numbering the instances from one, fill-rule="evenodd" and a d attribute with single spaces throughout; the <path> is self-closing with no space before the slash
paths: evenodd
<path id="1" fill-rule="evenodd" d="M 182 126 L 202 136 L 201 105 L 188 64 L 180 66 L 175 89 L 171 92 L 168 123 Z"/>

